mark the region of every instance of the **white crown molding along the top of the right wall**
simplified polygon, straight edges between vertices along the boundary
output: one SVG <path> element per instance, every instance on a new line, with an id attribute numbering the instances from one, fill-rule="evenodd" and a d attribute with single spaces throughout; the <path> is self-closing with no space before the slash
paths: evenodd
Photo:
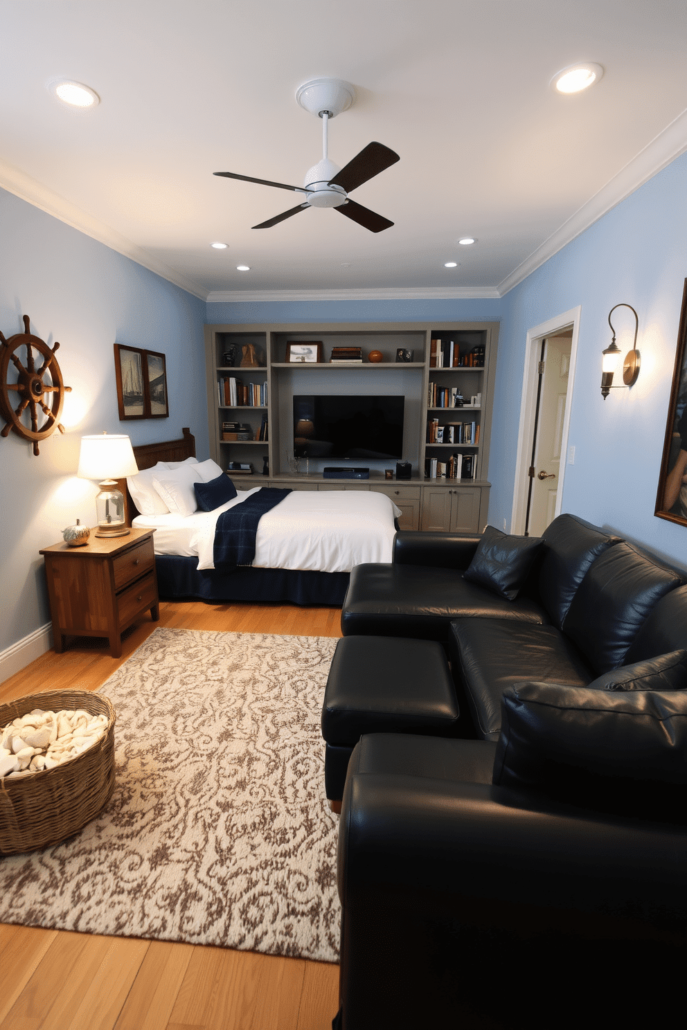
<path id="1" fill-rule="evenodd" d="M 597 194 L 594 194 L 510 275 L 506 276 L 499 283 L 499 296 L 503 297 L 523 279 L 526 279 L 549 258 L 553 258 L 555 253 L 562 250 L 585 229 L 598 221 L 608 211 L 620 204 L 645 182 L 648 182 L 650 178 L 669 165 L 676 158 L 679 158 L 685 150 L 687 150 L 687 110 L 679 114 L 662 132 L 655 136 Z"/>

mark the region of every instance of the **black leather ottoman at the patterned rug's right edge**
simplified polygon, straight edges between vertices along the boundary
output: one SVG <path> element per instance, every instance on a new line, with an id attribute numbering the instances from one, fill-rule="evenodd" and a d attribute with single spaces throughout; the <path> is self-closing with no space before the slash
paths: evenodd
<path id="1" fill-rule="evenodd" d="M 398 637 L 344 637 L 324 691 L 324 783 L 343 797 L 348 759 L 364 733 L 456 736 L 458 702 L 441 644 Z"/>

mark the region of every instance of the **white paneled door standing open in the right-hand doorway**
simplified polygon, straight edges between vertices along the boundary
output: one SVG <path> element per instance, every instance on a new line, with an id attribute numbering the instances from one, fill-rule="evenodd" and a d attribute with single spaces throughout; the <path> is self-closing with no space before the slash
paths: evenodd
<path id="1" fill-rule="evenodd" d="M 572 344 L 572 331 L 547 337 L 546 340 L 535 475 L 527 519 L 527 534 L 530 537 L 541 537 L 555 517 Z"/>

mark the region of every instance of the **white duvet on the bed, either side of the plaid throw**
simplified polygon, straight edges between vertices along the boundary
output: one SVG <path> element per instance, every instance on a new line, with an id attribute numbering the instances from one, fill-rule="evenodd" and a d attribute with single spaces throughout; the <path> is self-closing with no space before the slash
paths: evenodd
<path id="1" fill-rule="evenodd" d="M 217 516 L 260 487 L 239 490 L 212 512 L 137 515 L 133 524 L 154 528 L 156 554 L 198 555 L 198 569 L 214 569 L 212 545 Z M 349 573 L 364 561 L 390 561 L 397 508 L 373 490 L 291 490 L 262 516 L 253 565 L 261 569 Z"/>

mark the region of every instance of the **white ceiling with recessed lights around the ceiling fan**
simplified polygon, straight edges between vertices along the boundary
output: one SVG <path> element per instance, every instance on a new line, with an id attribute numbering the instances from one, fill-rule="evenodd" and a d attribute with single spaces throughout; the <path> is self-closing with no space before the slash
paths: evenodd
<path id="1" fill-rule="evenodd" d="M 496 297 L 687 149 L 685 0 L 1 9 L 0 185 L 200 297 Z M 604 67 L 600 82 L 554 94 L 552 75 L 580 60 Z M 100 105 L 59 104 L 56 75 Z M 330 126 L 334 161 L 372 140 L 401 154 L 353 197 L 394 222 L 383 233 L 327 209 L 251 230 L 298 196 L 212 175 L 301 184 L 321 122 L 295 94 L 320 75 L 356 91 Z"/>

